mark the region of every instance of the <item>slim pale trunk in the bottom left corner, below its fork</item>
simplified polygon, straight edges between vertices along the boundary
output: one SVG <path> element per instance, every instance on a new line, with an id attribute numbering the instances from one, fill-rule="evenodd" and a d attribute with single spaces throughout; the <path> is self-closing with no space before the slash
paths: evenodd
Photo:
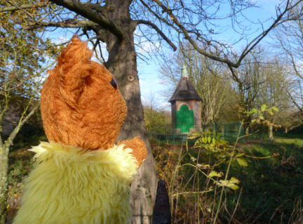
<path id="1" fill-rule="evenodd" d="M 0 224 L 6 220 L 7 187 L 8 187 L 8 149 L 0 148 Z"/>

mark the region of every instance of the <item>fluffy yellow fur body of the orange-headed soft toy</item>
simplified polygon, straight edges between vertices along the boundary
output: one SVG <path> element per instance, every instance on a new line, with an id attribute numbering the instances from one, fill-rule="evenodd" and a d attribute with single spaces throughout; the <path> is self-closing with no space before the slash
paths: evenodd
<path id="1" fill-rule="evenodd" d="M 129 185 L 137 170 L 130 148 L 85 151 L 60 143 L 33 147 L 14 224 L 129 223 Z"/>

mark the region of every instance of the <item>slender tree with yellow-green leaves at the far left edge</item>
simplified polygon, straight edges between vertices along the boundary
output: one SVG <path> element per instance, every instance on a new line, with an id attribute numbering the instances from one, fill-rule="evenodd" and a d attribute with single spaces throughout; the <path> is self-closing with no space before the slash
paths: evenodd
<path id="1" fill-rule="evenodd" d="M 6 4 L 0 1 L 0 5 Z M 34 11 L 34 10 L 33 10 Z M 22 126 L 39 107 L 39 87 L 46 57 L 57 52 L 50 41 L 26 31 L 30 21 L 20 11 L 0 13 L 0 223 L 6 218 L 8 153 Z M 18 32 L 16 32 L 18 30 Z M 4 134 L 4 119 L 13 117 L 13 129 Z"/>

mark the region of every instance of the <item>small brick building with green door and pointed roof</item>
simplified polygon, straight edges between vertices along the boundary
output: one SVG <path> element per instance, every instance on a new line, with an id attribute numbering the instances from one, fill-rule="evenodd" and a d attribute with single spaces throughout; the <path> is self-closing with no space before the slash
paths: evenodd
<path id="1" fill-rule="evenodd" d="M 201 98 L 189 81 L 185 65 L 182 68 L 182 77 L 169 102 L 174 133 L 189 133 L 192 129 L 201 129 Z"/>

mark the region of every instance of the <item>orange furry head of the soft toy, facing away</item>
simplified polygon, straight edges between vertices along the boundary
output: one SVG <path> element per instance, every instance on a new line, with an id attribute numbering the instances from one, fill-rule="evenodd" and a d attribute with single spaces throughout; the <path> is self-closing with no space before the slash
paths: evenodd
<path id="1" fill-rule="evenodd" d="M 91 56 L 73 37 L 41 90 L 41 115 L 48 140 L 105 150 L 114 145 L 127 107 L 112 74 Z"/>

